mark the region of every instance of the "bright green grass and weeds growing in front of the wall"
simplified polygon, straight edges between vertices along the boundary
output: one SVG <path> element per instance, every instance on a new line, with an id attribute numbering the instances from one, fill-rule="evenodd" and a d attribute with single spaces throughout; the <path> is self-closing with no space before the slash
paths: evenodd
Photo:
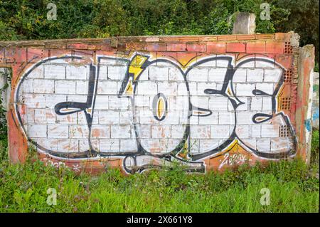
<path id="1" fill-rule="evenodd" d="M 312 154 L 319 160 L 319 132 L 313 138 Z M 177 166 L 89 176 L 39 161 L 9 164 L 4 143 L 0 150 L 0 212 L 319 212 L 319 179 L 310 173 L 319 171 L 316 159 L 311 167 L 295 160 L 223 174 L 186 174 Z M 58 192 L 55 206 L 46 203 L 48 188 Z M 260 204 L 262 188 L 270 189 L 269 206 Z"/>

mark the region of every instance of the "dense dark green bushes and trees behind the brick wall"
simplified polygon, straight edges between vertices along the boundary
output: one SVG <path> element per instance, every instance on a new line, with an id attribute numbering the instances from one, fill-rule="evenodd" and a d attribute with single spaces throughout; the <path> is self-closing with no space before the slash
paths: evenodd
<path id="1" fill-rule="evenodd" d="M 270 20 L 260 19 L 265 2 Z M 57 20 L 47 19 L 48 3 Z M 318 0 L 0 0 L 0 40 L 228 34 L 238 11 L 256 14 L 257 33 L 299 33 L 319 62 Z"/>

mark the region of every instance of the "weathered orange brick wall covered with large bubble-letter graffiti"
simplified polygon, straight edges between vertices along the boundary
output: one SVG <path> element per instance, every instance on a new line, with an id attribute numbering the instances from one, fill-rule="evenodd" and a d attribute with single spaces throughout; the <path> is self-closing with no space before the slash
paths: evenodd
<path id="1" fill-rule="evenodd" d="M 43 161 L 75 171 L 308 161 L 302 112 L 314 56 L 299 75 L 291 41 L 275 33 L 0 43 L 0 67 L 13 70 L 11 161 L 23 162 L 31 144 Z M 299 77 L 309 84 L 300 98 Z"/>

